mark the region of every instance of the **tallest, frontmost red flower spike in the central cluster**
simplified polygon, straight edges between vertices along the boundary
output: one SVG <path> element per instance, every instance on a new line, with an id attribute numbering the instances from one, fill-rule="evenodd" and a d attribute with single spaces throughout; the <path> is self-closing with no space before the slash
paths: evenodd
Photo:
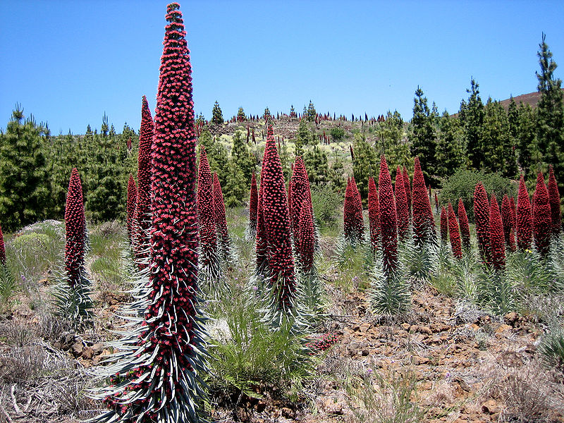
<path id="1" fill-rule="evenodd" d="M 268 154 L 268 159 L 266 164 L 263 164 L 266 167 L 263 167 L 264 177 L 260 185 L 261 190 L 264 186 L 262 201 L 264 226 L 268 236 L 271 285 L 276 293 L 278 310 L 287 311 L 292 307 L 295 296 L 294 260 L 286 183 L 274 142 L 272 125 L 268 127 L 264 154 Z"/>

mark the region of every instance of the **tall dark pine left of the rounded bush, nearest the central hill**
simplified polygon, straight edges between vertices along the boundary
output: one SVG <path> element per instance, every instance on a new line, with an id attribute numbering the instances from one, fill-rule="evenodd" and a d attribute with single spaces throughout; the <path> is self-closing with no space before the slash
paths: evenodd
<path id="1" fill-rule="evenodd" d="M 413 99 L 413 117 L 411 118 L 411 154 L 419 157 L 421 169 L 427 183 L 436 185 L 436 116 L 431 114 L 427 105 L 427 97 L 423 97 L 423 90 L 417 87 Z"/>

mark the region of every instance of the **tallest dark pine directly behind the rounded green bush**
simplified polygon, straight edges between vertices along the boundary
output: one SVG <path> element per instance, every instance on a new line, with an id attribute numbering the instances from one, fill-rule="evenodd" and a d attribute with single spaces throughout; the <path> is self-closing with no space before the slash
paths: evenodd
<path id="1" fill-rule="evenodd" d="M 484 104 L 480 98 L 479 85 L 474 78 L 470 81 L 470 90 L 466 92 L 470 94 L 470 97 L 468 97 L 468 102 L 462 100 L 460 103 L 458 116 L 462 124 L 470 166 L 479 170 L 484 161 L 484 145 L 480 139 L 480 128 L 484 121 Z"/>

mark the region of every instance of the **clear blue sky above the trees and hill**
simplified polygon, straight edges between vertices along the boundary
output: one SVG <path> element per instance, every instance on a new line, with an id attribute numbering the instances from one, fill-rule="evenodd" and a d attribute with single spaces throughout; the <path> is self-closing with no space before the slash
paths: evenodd
<path id="1" fill-rule="evenodd" d="M 180 2 L 197 114 L 317 111 L 409 120 L 419 85 L 458 111 L 537 90 L 541 32 L 564 78 L 564 1 Z M 16 102 L 51 133 L 139 129 L 154 111 L 167 1 L 0 0 L 0 128 Z"/>

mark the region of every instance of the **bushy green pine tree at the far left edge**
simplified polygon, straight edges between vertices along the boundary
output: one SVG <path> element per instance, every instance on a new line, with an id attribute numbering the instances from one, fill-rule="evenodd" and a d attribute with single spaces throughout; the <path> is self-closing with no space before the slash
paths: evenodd
<path id="1" fill-rule="evenodd" d="M 46 217 L 49 206 L 49 175 L 42 152 L 42 138 L 49 137 L 46 125 L 25 119 L 16 105 L 6 133 L 0 134 L 0 221 L 4 231 Z"/>

